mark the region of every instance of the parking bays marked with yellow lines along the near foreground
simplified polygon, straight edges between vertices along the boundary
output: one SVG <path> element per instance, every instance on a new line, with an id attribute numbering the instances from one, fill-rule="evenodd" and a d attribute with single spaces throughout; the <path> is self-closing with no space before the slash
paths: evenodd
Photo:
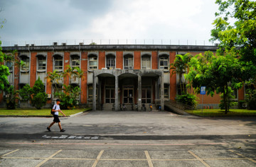
<path id="1" fill-rule="evenodd" d="M 255 153 L 234 150 L 1 150 L 0 166 L 256 166 Z"/>

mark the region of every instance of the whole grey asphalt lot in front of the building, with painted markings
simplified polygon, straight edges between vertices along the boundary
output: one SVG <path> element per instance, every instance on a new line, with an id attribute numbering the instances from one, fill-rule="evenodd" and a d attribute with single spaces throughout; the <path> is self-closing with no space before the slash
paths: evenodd
<path id="1" fill-rule="evenodd" d="M 0 117 L 0 166 L 256 166 L 255 117 L 92 111 Z"/>

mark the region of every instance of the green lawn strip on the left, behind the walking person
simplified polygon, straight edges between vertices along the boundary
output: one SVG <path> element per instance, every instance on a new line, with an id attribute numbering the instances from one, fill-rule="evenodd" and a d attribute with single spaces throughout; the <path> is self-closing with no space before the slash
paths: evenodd
<path id="1" fill-rule="evenodd" d="M 65 113 L 66 116 L 73 115 L 76 113 L 80 113 L 83 111 L 90 110 L 90 108 L 78 108 L 75 110 L 62 110 L 63 113 Z M 6 110 L 4 108 L 0 109 L 0 115 L 19 115 L 19 116 L 28 116 L 28 115 L 51 115 L 50 114 L 50 108 L 43 108 L 41 110 L 37 110 L 36 108 L 17 108 L 15 110 Z M 61 116 L 62 114 L 59 113 Z"/>

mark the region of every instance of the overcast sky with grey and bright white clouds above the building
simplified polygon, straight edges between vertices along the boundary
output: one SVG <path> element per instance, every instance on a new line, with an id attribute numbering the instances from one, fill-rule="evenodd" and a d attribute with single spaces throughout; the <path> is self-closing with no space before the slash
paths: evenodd
<path id="1" fill-rule="evenodd" d="M 209 40 L 215 0 L 0 0 L 0 40 Z"/>

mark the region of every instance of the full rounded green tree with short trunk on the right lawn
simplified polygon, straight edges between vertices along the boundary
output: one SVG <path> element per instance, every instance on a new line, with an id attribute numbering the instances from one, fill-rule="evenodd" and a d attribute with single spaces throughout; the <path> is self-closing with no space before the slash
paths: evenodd
<path id="1" fill-rule="evenodd" d="M 229 111 L 229 88 L 238 89 L 242 87 L 243 81 L 247 79 L 256 67 L 252 62 L 240 62 L 233 52 L 226 53 L 225 56 L 213 55 L 213 52 L 205 52 L 196 55 L 189 62 L 189 72 L 186 79 L 197 93 L 201 86 L 206 86 L 206 92 L 210 96 L 216 93 L 223 93 L 223 105 L 225 113 Z"/>

